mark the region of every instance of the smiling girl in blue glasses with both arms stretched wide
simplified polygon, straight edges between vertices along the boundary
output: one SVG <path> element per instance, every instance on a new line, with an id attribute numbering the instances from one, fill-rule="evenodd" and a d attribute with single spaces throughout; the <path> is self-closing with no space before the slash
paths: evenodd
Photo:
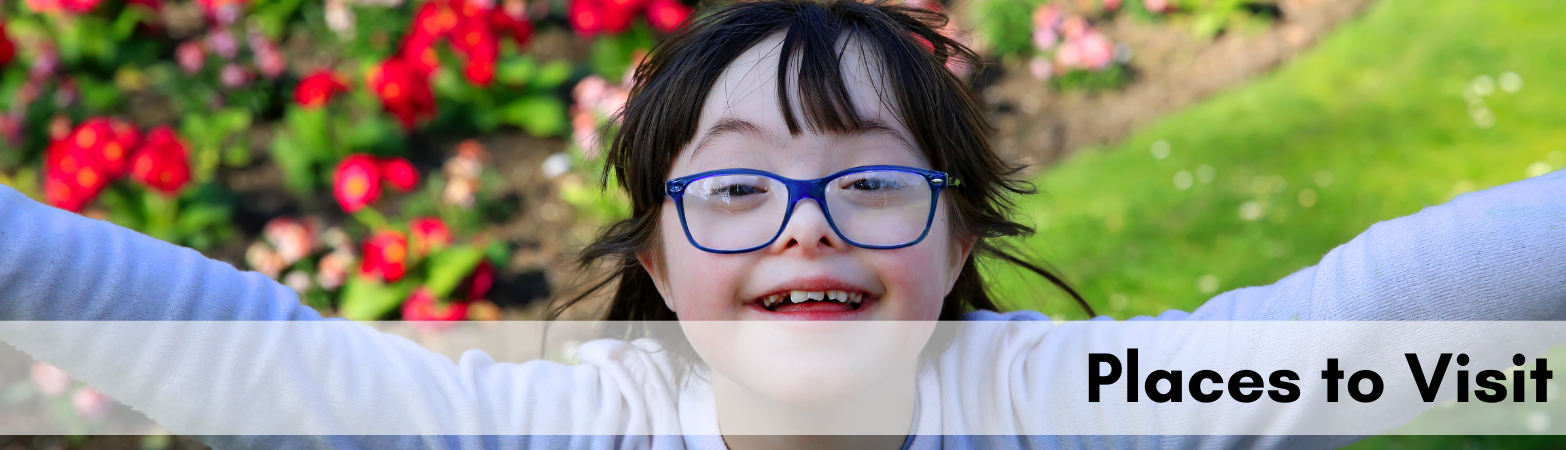
<path id="1" fill-rule="evenodd" d="M 1002 420 L 1015 434 L 1051 430 L 1041 425 L 1049 411 L 1029 401 L 1081 378 L 1057 368 L 1066 367 L 1055 364 L 1066 353 L 1060 342 L 1123 337 L 1032 326 L 821 342 L 839 337 L 827 321 L 1048 325 L 1037 312 L 994 312 L 976 267 L 980 257 L 1023 263 L 993 240 L 1029 232 L 1012 220 L 1009 202 L 1027 190 L 991 151 L 985 108 L 946 69 L 977 58 L 936 31 L 943 20 L 880 2 L 741 2 L 708 11 L 648 55 L 609 149 L 609 171 L 630 193 L 633 216 L 583 257 L 617 268 L 604 284 L 614 290 L 606 320 L 678 321 L 689 343 L 597 340 L 579 348 L 578 365 L 496 364 L 478 351 L 451 364 L 366 326 L 321 321 L 262 274 L 13 190 L 0 190 L 0 320 L 330 326 L 235 326 L 230 334 L 146 340 L 127 340 L 108 323 L 0 326 L 0 339 L 171 431 L 243 434 L 207 437 L 222 448 L 1351 441 L 963 437 L 993 434 L 974 431 L 983 423 L 965 416 L 980 409 L 1012 414 Z M 1563 224 L 1566 172 L 1547 174 L 1377 224 L 1278 284 L 1157 320 L 1560 320 Z M 933 356 L 911 362 L 921 351 Z M 882 356 L 891 361 L 885 376 L 853 376 L 866 373 L 857 364 Z M 1131 426 L 1146 419 L 1132 417 L 1135 411 L 1084 417 Z M 850 431 L 869 436 L 760 436 L 832 423 L 853 423 L 863 428 Z M 1292 430 L 1286 425 L 1275 430 Z M 1124 434 L 1137 434 L 1132 428 Z"/>

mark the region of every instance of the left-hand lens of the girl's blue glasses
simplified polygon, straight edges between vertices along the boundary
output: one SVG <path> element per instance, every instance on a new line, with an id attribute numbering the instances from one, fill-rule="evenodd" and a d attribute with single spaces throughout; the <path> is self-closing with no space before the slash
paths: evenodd
<path id="1" fill-rule="evenodd" d="M 697 245 L 736 251 L 766 245 L 788 213 L 788 187 L 763 176 L 711 176 L 686 185 L 684 220 Z"/>

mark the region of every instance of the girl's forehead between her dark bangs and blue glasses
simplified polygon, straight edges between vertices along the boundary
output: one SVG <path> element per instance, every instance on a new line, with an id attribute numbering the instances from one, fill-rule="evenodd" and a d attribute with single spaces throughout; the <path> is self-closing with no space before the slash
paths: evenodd
<path id="1" fill-rule="evenodd" d="M 810 147 L 833 143 L 853 143 L 857 144 L 853 147 L 897 147 L 902 155 L 893 155 L 894 160 L 886 160 L 886 155 L 882 155 L 879 163 L 926 166 L 922 155 L 911 146 L 911 133 L 902 124 L 889 99 L 880 93 L 888 85 L 874 50 L 857 38 L 839 39 L 833 50 L 841 61 L 843 86 L 849 102 L 869 124 L 866 130 L 850 133 L 813 130 L 799 94 L 799 53 L 806 50 L 796 50 L 794 61 L 789 64 L 791 72 L 786 75 L 788 99 L 792 114 L 803 130 L 797 136 L 789 135 L 778 102 L 778 83 L 781 82 L 778 66 L 783 63 L 783 33 L 780 31 L 747 49 L 723 69 L 702 105 L 695 138 L 686 144 L 677 158 L 677 166 L 681 163 L 689 166 L 694 157 L 703 161 L 713 158 L 752 161 L 752 155 L 738 155 L 736 152 L 755 154 L 758 146 L 783 151 L 772 154 L 785 157 L 816 157 L 819 160 L 827 155 L 811 155 Z M 734 144 L 736 141 L 742 141 L 742 144 Z M 886 154 L 888 151 L 882 149 L 880 152 Z"/>

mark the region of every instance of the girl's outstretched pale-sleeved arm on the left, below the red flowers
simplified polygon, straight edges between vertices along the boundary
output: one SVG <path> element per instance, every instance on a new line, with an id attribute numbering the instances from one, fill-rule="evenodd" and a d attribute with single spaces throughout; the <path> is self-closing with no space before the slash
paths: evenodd
<path id="1" fill-rule="evenodd" d="M 6 187 L 0 187 L 0 340 L 180 434 L 667 434 L 678 428 L 673 411 L 645 414 L 672 409 L 673 395 L 666 372 L 633 343 L 584 345 L 584 364 L 573 367 L 500 364 L 482 351 L 453 364 L 402 337 L 323 320 L 293 290 L 258 273 L 38 204 Z M 525 442 L 215 441 L 243 447 Z"/>

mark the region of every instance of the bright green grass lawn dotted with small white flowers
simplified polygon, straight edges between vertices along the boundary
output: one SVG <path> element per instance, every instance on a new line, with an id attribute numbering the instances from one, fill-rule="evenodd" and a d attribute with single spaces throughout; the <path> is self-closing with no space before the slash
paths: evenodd
<path id="1" fill-rule="evenodd" d="M 1038 235 L 1019 245 L 1101 314 L 1190 310 L 1314 265 L 1377 221 L 1566 168 L 1563 20 L 1558 0 L 1380 2 L 1275 74 L 1040 174 L 1021 204 Z M 1041 281 L 993 274 L 1009 307 L 1085 317 Z M 1358 444 L 1430 445 L 1561 441 Z"/>

